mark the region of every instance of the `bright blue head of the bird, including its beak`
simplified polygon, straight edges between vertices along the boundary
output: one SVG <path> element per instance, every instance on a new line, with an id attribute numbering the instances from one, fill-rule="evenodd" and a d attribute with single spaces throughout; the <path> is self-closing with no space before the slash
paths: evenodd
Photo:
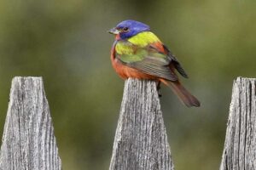
<path id="1" fill-rule="evenodd" d="M 109 33 L 115 34 L 117 39 L 126 39 L 137 35 L 142 31 L 149 31 L 149 26 L 136 20 L 124 20 L 120 22 L 116 27 L 111 29 Z"/>

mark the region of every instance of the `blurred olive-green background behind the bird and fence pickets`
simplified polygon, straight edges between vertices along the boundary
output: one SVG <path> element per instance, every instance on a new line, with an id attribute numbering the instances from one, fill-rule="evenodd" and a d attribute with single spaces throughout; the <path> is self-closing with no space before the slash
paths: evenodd
<path id="1" fill-rule="evenodd" d="M 151 26 L 189 73 L 201 100 L 183 106 L 162 88 L 177 170 L 219 167 L 233 80 L 256 77 L 254 0 L 0 1 L 0 133 L 11 79 L 44 77 L 64 170 L 108 169 L 124 82 L 107 31 L 121 20 Z"/>

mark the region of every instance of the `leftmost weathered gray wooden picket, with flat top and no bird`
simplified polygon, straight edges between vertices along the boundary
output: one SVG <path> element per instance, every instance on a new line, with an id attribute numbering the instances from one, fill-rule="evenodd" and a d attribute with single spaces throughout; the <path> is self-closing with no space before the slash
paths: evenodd
<path id="1" fill-rule="evenodd" d="M 0 152 L 1 170 L 61 170 L 41 77 L 15 77 Z"/>

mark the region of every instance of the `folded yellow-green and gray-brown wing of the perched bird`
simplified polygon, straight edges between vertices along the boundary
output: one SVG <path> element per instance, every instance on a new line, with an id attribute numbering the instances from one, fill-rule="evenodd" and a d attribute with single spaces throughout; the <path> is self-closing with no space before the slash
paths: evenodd
<path id="1" fill-rule="evenodd" d="M 142 48 L 132 44 L 125 44 L 125 48 L 122 51 L 118 44 L 117 48 L 115 57 L 123 65 L 155 77 L 161 77 L 170 81 L 177 80 L 177 75 L 170 69 L 171 60 L 166 54 L 159 53 L 150 45 Z"/>

